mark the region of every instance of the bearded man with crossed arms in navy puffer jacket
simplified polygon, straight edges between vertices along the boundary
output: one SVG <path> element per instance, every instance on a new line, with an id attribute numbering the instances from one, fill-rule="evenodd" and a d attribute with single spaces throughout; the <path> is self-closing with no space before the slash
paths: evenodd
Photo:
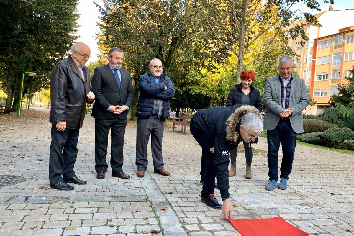
<path id="1" fill-rule="evenodd" d="M 139 78 L 139 99 L 136 109 L 136 156 L 137 176 L 144 177 L 148 166 L 147 149 L 151 134 L 151 152 L 154 172 L 170 175 L 164 168 L 162 157 L 162 136 L 164 135 L 165 120 L 169 117 L 169 100 L 175 96 L 175 88 L 168 76 L 162 73 L 160 59 L 154 58 L 149 64 L 149 73 Z"/>

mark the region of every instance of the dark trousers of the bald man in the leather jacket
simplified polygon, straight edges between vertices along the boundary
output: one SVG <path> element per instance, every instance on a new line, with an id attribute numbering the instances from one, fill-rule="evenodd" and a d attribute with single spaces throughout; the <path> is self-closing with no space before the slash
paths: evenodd
<path id="1" fill-rule="evenodd" d="M 55 185 L 75 176 L 74 164 L 78 156 L 76 145 L 80 129 L 58 131 L 52 125 L 52 142 L 49 152 L 49 184 Z M 63 177 L 62 177 L 63 175 Z"/>

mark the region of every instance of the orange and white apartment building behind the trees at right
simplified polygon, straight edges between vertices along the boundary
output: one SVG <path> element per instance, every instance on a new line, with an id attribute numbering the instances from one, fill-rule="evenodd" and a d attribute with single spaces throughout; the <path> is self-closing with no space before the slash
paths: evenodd
<path id="1" fill-rule="evenodd" d="M 308 114 L 319 114 L 329 106 L 329 97 L 338 93 L 338 84 L 349 76 L 349 69 L 354 65 L 354 38 L 350 38 L 354 37 L 353 14 L 354 9 L 335 11 L 330 6 L 328 11 L 315 15 L 321 26 L 303 19 L 288 27 L 304 24 L 304 31 L 309 37 L 304 46 L 299 38 L 289 42 L 299 56 L 294 60 L 299 77 L 312 89 L 310 96 L 317 102 L 315 106 L 306 108 Z"/>

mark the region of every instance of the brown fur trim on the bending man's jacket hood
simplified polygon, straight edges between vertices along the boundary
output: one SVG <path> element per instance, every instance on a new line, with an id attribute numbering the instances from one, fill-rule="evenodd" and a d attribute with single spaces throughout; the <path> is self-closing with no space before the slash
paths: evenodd
<path id="1" fill-rule="evenodd" d="M 239 123 L 239 117 L 245 115 L 247 113 L 255 113 L 259 117 L 261 117 L 261 113 L 259 113 L 258 109 L 251 106 L 251 105 L 243 105 L 236 109 L 233 114 L 229 116 L 226 120 L 226 139 L 229 141 L 233 141 L 234 143 L 237 142 L 240 133 L 236 131 L 237 124 Z"/>

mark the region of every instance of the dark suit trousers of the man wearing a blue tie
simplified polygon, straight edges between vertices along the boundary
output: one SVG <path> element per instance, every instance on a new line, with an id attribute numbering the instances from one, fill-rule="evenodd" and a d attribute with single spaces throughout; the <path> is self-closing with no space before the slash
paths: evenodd
<path id="1" fill-rule="evenodd" d="M 109 129 L 112 140 L 110 159 L 112 174 L 118 174 L 123 171 L 123 145 L 126 126 L 127 119 L 120 119 L 118 117 L 110 120 L 95 119 L 95 169 L 97 172 L 106 172 L 108 169 L 106 157 Z"/>

